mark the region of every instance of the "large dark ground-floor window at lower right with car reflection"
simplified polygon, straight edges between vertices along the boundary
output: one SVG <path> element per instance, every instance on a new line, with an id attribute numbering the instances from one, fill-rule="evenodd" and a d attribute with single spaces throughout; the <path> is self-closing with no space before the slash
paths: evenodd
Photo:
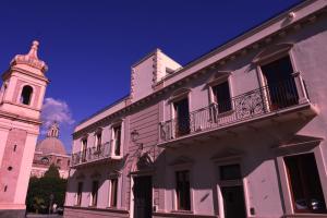
<path id="1" fill-rule="evenodd" d="M 294 210 L 327 213 L 314 154 L 284 157 Z"/>

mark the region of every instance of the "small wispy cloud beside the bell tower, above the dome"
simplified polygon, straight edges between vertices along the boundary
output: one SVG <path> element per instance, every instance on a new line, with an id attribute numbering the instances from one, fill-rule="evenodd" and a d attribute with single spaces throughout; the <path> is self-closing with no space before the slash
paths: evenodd
<path id="1" fill-rule="evenodd" d="M 41 120 L 44 129 L 43 133 L 45 133 L 53 121 L 57 121 L 60 125 L 72 125 L 75 122 L 68 104 L 63 100 L 53 98 L 45 99 Z"/>

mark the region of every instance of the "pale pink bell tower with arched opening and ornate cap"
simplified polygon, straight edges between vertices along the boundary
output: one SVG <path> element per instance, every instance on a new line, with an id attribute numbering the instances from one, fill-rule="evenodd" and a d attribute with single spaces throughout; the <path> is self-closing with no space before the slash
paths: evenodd
<path id="1" fill-rule="evenodd" d="M 24 217 L 40 112 L 49 83 L 38 41 L 2 74 L 0 90 L 0 217 Z"/>

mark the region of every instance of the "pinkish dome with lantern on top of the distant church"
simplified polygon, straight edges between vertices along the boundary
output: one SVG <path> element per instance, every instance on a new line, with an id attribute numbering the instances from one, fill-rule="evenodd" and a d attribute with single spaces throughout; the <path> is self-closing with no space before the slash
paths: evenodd
<path id="1" fill-rule="evenodd" d="M 44 155 L 45 154 L 58 154 L 58 155 L 66 155 L 66 152 L 64 149 L 64 146 L 60 140 L 58 140 L 59 136 L 59 128 L 58 124 L 55 122 L 47 134 L 47 137 L 39 142 L 36 146 L 36 152 L 40 152 Z"/>

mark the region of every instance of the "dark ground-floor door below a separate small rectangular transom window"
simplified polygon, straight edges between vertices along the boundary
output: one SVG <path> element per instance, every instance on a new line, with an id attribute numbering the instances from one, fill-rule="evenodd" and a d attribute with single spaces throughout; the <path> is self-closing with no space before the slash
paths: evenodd
<path id="1" fill-rule="evenodd" d="M 242 185 L 222 186 L 225 218 L 245 218 L 245 202 Z"/>

